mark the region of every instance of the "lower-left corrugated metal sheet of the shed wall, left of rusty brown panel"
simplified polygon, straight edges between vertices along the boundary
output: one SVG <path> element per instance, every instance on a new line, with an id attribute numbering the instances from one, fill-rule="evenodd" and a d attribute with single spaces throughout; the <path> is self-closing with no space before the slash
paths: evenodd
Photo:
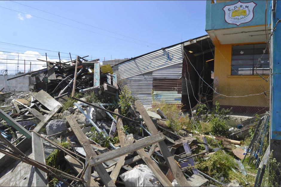
<path id="1" fill-rule="evenodd" d="M 152 108 L 152 73 L 126 78 L 124 82 L 145 108 Z"/>

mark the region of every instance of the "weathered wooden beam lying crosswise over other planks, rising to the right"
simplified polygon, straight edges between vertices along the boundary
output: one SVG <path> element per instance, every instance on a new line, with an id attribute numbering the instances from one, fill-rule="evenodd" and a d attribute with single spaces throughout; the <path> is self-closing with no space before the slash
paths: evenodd
<path id="1" fill-rule="evenodd" d="M 144 147 L 147 147 L 149 145 L 152 145 L 152 144 L 162 141 L 164 139 L 165 139 L 165 136 L 163 135 L 163 133 L 159 133 L 154 136 L 149 136 L 149 137 L 143 138 L 131 145 L 121 147 L 119 149 L 114 149 L 112 151 L 109 151 L 109 152 L 106 152 L 106 153 L 93 157 L 91 160 L 89 160 L 90 166 L 95 166 L 97 164 L 101 164 L 108 160 L 112 160 L 113 158 L 120 157 L 124 154 L 132 153 L 134 151 L 137 151 L 139 149 L 142 149 Z"/>

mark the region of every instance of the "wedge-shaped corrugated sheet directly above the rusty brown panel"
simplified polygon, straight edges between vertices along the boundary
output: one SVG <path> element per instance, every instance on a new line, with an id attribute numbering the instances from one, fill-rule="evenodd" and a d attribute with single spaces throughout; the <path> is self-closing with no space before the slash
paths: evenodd
<path id="1" fill-rule="evenodd" d="M 182 63 L 157 69 L 152 72 L 153 78 L 181 78 Z"/>

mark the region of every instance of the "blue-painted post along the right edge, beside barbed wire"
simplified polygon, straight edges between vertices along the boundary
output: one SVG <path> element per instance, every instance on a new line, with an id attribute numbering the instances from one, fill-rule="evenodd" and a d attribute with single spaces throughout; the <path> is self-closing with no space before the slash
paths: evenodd
<path id="1" fill-rule="evenodd" d="M 270 82 L 270 114 L 271 114 L 271 124 L 270 124 L 270 151 L 273 150 L 273 157 L 276 159 L 277 163 L 281 163 L 281 23 L 278 19 L 281 19 L 281 1 L 272 1 L 272 17 L 271 17 L 271 29 L 277 23 L 274 34 L 271 38 L 271 82 Z M 279 23 L 279 24 L 278 24 Z M 279 175 L 279 174 L 277 174 Z M 279 185 L 281 179 L 279 177 Z M 279 186 L 278 185 L 278 186 Z"/>

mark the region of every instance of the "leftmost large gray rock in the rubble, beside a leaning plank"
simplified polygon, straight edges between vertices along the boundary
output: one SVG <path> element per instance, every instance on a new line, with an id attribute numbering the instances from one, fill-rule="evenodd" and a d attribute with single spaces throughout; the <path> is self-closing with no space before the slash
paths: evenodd
<path id="1" fill-rule="evenodd" d="M 66 132 L 66 120 L 51 120 L 46 125 L 46 131 L 48 136 L 56 134 L 58 132 Z"/>

